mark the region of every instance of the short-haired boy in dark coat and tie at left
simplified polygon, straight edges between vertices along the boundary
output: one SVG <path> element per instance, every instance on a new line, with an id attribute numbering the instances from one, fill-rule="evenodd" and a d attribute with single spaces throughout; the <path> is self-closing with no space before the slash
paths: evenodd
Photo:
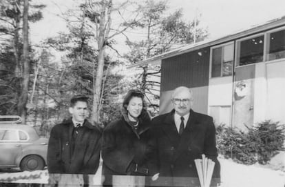
<path id="1" fill-rule="evenodd" d="M 50 132 L 47 148 L 48 173 L 95 174 L 100 159 L 101 131 L 87 121 L 87 97 L 70 100 L 70 119 Z"/>

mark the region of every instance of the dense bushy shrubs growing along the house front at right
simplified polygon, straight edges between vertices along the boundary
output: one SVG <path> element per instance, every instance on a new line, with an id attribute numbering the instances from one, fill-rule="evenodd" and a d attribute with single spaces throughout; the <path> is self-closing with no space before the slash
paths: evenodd
<path id="1" fill-rule="evenodd" d="M 284 125 L 263 121 L 248 132 L 237 128 L 217 128 L 217 147 L 224 157 L 231 157 L 242 164 L 266 164 L 277 150 L 284 150 Z"/>

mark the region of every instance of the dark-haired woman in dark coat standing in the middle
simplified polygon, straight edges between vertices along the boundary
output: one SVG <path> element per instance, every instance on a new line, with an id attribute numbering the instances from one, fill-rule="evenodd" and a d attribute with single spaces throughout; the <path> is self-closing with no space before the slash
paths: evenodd
<path id="1" fill-rule="evenodd" d="M 154 138 L 144 95 L 129 90 L 123 101 L 122 117 L 103 131 L 104 185 L 112 185 L 112 175 L 154 175 L 157 171 Z"/>

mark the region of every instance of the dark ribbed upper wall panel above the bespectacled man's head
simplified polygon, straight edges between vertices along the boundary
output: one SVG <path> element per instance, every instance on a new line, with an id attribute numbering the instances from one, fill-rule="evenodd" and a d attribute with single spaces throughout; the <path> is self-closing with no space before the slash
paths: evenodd
<path id="1" fill-rule="evenodd" d="M 160 91 L 178 86 L 208 86 L 210 48 L 202 48 L 169 59 L 162 59 Z"/>

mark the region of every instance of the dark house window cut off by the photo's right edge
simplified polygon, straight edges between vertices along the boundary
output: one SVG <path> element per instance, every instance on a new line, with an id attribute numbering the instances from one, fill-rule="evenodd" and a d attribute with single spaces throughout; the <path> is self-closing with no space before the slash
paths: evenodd
<path id="1" fill-rule="evenodd" d="M 268 60 L 285 58 L 285 30 L 269 34 Z"/>

